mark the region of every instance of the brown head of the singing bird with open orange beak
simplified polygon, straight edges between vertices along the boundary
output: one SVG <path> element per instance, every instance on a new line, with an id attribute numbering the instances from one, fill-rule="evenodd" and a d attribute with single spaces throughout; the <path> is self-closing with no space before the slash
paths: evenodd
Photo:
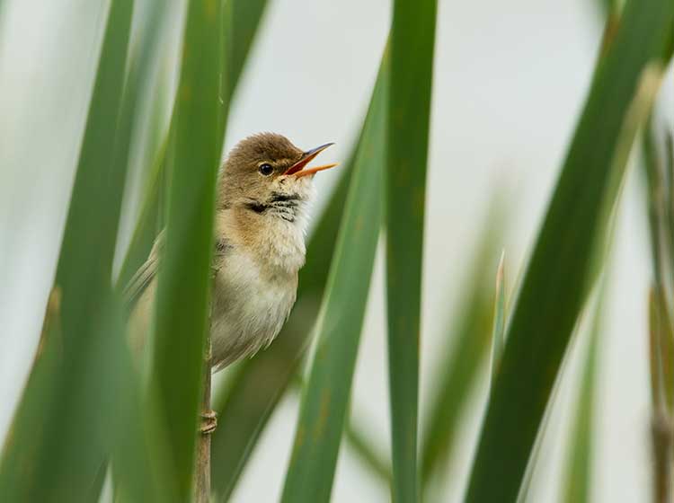
<path id="1" fill-rule="evenodd" d="M 219 206 L 244 207 L 294 221 L 313 194 L 315 173 L 337 165 L 308 165 L 331 145 L 304 151 L 274 133 L 245 138 L 231 150 L 223 166 Z"/>

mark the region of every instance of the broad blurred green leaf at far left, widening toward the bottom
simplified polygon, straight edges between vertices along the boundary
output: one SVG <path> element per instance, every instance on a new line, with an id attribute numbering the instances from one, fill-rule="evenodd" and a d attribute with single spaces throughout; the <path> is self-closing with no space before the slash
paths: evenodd
<path id="1" fill-rule="evenodd" d="M 4 449 L 0 493 L 8 501 L 91 497 L 121 427 L 114 411 L 123 342 L 111 269 L 127 171 L 120 105 L 132 11 L 130 0 L 111 2 L 47 330 Z"/>

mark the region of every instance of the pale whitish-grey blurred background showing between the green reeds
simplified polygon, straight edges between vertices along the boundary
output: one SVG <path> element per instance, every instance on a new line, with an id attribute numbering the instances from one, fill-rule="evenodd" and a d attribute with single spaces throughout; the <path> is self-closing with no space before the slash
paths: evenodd
<path id="1" fill-rule="evenodd" d="M 0 12 L 0 437 L 30 366 L 56 268 L 105 5 L 105 0 L 5 0 Z M 173 21 L 177 30 L 180 23 Z M 386 0 L 270 0 L 235 98 L 226 148 L 248 134 L 271 130 L 306 148 L 335 141 L 330 159 L 345 159 L 367 105 L 389 22 Z M 509 195 L 514 216 L 503 243 L 510 281 L 526 259 L 588 90 L 599 36 L 599 16 L 591 0 L 439 1 L 422 410 L 428 405 L 427 384 L 438 349 L 444 348 L 448 306 L 461 296 L 468 254 L 494 190 Z M 175 48 L 164 50 L 170 55 Z M 662 107 L 670 123 L 672 77 L 670 72 Z M 650 257 L 638 175 L 633 167 L 621 203 L 600 357 L 592 489 L 592 500 L 599 502 L 644 501 L 649 495 L 645 303 Z M 327 172 L 316 177 L 321 198 L 335 176 Z M 353 404 L 387 449 L 381 266 L 380 254 Z M 577 359 L 571 358 L 570 378 L 563 380 L 555 402 L 533 501 L 556 501 L 565 453 L 554 439 L 566 435 Z M 483 396 L 475 398 L 466 420 L 462 448 L 444 482 L 445 501 L 458 501 L 465 487 L 482 403 Z M 288 396 L 255 450 L 235 502 L 278 499 L 296 417 L 297 399 Z M 349 448 L 342 448 L 333 501 L 387 500 L 386 488 L 368 479 Z"/>

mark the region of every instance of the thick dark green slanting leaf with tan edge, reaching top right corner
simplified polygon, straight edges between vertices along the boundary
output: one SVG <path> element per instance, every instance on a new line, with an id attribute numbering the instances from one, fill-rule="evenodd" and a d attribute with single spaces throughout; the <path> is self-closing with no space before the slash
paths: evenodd
<path id="1" fill-rule="evenodd" d="M 514 501 L 606 237 L 636 128 L 674 26 L 669 0 L 629 1 L 599 69 L 512 312 L 466 499 Z M 637 88 L 642 93 L 637 93 Z"/>

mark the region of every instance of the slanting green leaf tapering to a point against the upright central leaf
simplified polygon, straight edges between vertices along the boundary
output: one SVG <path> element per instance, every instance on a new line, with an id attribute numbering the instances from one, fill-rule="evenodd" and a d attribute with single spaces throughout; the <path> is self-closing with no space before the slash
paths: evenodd
<path id="1" fill-rule="evenodd" d="M 330 267 L 282 501 L 329 501 L 381 226 L 386 54 L 372 93 Z"/>

